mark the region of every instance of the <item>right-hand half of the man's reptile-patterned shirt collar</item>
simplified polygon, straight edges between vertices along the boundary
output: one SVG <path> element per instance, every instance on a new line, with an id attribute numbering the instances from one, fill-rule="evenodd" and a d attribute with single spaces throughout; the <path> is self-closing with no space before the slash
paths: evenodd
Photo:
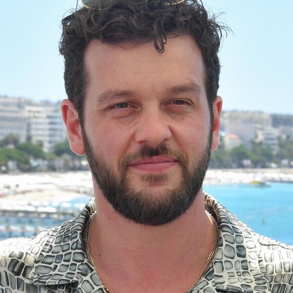
<path id="1" fill-rule="evenodd" d="M 220 228 L 219 245 L 212 262 L 215 288 L 228 292 L 253 292 L 255 288 L 265 291 L 267 281 L 259 266 L 256 233 L 211 195 L 204 195 Z"/>

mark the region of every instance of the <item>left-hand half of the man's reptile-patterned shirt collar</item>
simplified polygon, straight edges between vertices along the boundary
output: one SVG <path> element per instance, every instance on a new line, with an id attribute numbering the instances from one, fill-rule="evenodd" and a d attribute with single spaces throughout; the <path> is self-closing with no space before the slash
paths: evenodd
<path id="1" fill-rule="evenodd" d="M 94 210 L 92 198 L 78 216 L 47 231 L 45 240 L 41 239 L 44 238 L 42 234 L 36 236 L 35 242 L 41 241 L 41 251 L 26 277 L 26 283 L 58 285 L 79 282 L 93 270 L 84 254 L 82 235 L 85 223 Z"/>

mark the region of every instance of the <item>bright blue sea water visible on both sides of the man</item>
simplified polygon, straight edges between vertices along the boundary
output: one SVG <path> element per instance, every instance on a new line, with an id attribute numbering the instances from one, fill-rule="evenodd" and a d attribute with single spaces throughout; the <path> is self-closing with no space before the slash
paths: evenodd
<path id="1" fill-rule="evenodd" d="M 269 183 L 258 186 L 251 184 L 205 185 L 204 191 L 212 194 L 230 212 L 254 231 L 275 240 L 293 245 L 293 184 Z M 90 197 L 82 196 L 62 203 L 59 208 L 75 209 L 76 213 Z M 0 226 L 15 227 L 36 225 L 38 228 L 55 227 L 66 219 L 10 218 L 0 215 Z M 0 240 L 14 236 L 31 236 L 35 231 L 0 232 Z"/>

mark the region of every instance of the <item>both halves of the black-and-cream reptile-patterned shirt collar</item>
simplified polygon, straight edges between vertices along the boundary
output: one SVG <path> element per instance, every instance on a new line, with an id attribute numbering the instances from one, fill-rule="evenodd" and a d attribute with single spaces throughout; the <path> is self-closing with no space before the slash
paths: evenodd
<path id="1" fill-rule="evenodd" d="M 215 288 L 228 292 L 247 292 L 258 285 L 266 287 L 260 272 L 259 246 L 255 233 L 210 194 L 204 195 L 205 204 L 220 228 L 219 245 L 211 264 Z M 92 270 L 84 254 L 82 232 L 94 210 L 95 202 L 92 198 L 77 217 L 46 232 L 47 238 L 42 240 L 42 250 L 26 278 L 27 283 L 58 285 L 79 282 L 83 275 Z M 36 241 L 41 241 L 40 235 Z M 98 279 L 97 286 L 100 285 L 102 287 L 102 282 Z"/>

